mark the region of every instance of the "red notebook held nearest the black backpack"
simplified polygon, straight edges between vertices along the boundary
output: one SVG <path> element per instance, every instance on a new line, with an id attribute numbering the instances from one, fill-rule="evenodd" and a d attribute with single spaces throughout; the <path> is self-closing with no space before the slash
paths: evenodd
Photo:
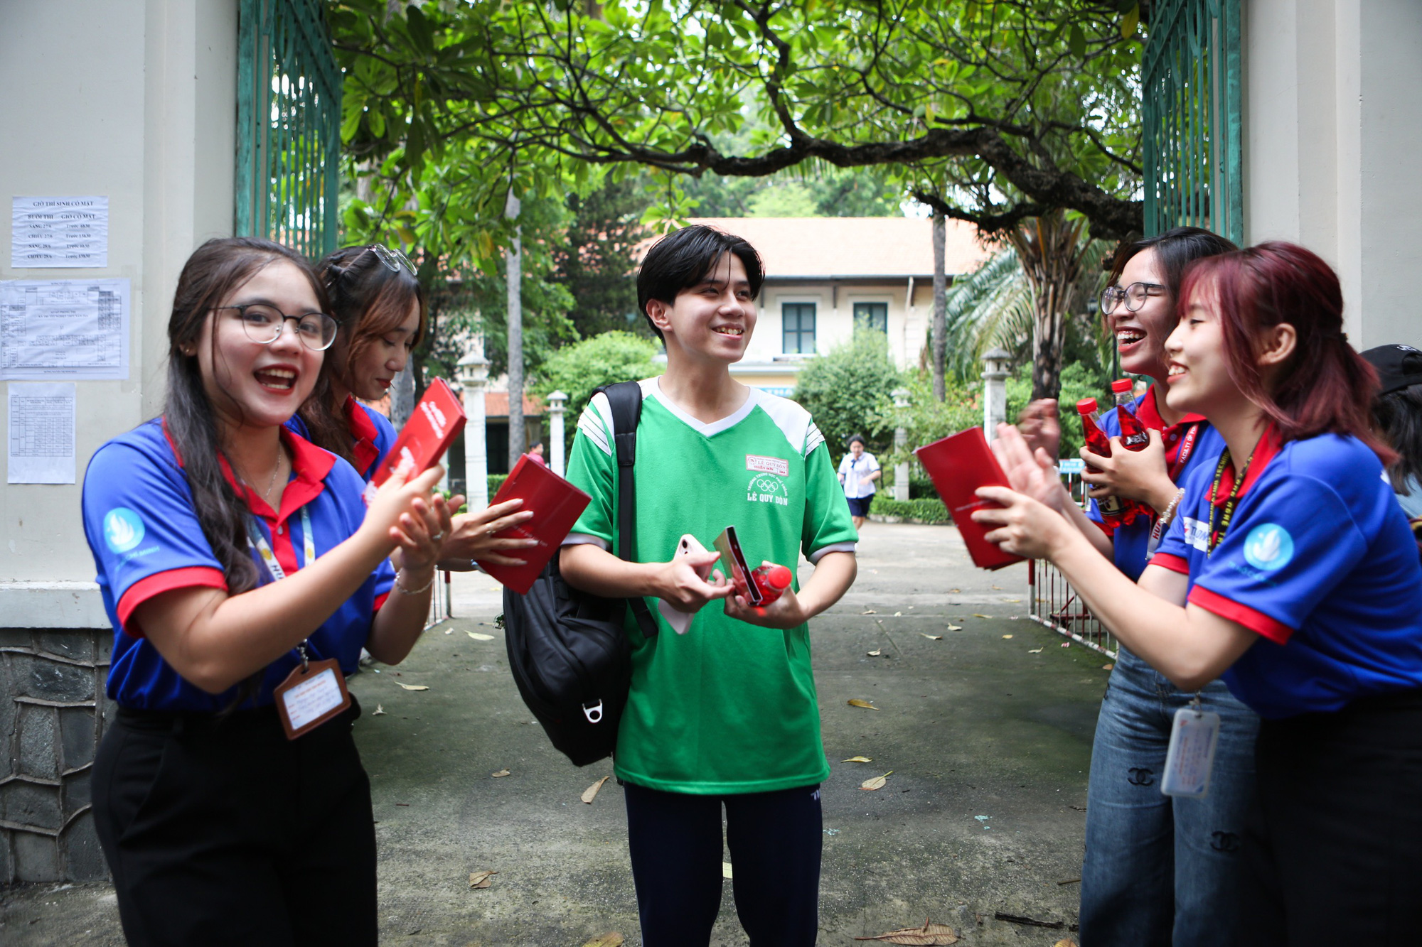
<path id="1" fill-rule="evenodd" d="M 509 479 L 503 481 L 503 486 L 489 501 L 489 506 L 510 499 L 522 499 L 520 509 L 532 510 L 533 519 L 501 529 L 495 536 L 501 539 L 536 539 L 539 540 L 538 546 L 513 549 L 506 553 L 512 559 L 523 559 L 525 565 L 522 566 L 496 566 L 478 559 L 475 562 L 486 573 L 522 596 L 533 587 L 533 580 L 543 572 L 543 566 L 553 557 L 557 547 L 563 545 L 563 539 L 593 498 L 539 464 L 530 454 L 525 454 L 513 465 Z"/>

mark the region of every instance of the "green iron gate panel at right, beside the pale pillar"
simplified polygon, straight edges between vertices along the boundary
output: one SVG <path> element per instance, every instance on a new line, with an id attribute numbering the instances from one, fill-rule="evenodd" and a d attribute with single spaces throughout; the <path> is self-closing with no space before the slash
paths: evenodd
<path id="1" fill-rule="evenodd" d="M 1156 0 L 1142 64 L 1145 229 L 1244 242 L 1240 0 Z"/>

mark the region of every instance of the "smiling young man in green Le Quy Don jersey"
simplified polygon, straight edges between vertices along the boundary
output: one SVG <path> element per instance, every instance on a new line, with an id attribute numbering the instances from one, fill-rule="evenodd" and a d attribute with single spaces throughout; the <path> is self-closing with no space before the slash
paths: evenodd
<path id="1" fill-rule="evenodd" d="M 806 623 L 855 580 L 845 493 L 825 438 L 793 401 L 731 378 L 755 330 L 764 273 L 745 240 L 691 226 L 660 240 L 637 274 L 638 304 L 667 346 L 641 382 L 636 562 L 614 552 L 617 462 L 603 395 L 577 422 L 569 479 L 593 502 L 562 550 L 565 579 L 609 597 L 644 596 L 660 634 L 629 620 L 633 678 L 617 738 L 643 944 L 710 943 L 721 906 L 725 806 L 737 914 L 752 947 L 813 944 L 819 929 L 819 737 Z M 717 553 L 677 556 L 684 533 L 711 549 L 735 526 L 751 565 L 795 570 L 803 587 L 755 607 Z M 677 634 L 656 607 L 694 613 Z"/>

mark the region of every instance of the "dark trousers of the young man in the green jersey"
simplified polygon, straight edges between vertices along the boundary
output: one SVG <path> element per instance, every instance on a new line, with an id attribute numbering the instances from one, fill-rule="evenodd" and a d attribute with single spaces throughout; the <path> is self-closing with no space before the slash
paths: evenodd
<path id="1" fill-rule="evenodd" d="M 751 947 L 819 934 L 819 786 L 694 796 L 626 783 L 643 947 L 704 947 L 721 910 L 721 806 L 735 913 Z"/>

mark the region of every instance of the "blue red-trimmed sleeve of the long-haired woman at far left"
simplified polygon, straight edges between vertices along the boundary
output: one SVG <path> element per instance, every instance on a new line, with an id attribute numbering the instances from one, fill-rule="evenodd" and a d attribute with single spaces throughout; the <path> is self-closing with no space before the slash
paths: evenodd
<path id="1" fill-rule="evenodd" d="M 226 589 L 226 582 L 176 459 L 145 444 L 152 437 L 132 434 L 109 441 L 90 461 L 82 505 L 98 583 L 112 597 L 125 630 L 141 636 L 127 626 L 142 601 L 169 589 Z M 166 448 L 161 431 L 158 441 Z"/>

